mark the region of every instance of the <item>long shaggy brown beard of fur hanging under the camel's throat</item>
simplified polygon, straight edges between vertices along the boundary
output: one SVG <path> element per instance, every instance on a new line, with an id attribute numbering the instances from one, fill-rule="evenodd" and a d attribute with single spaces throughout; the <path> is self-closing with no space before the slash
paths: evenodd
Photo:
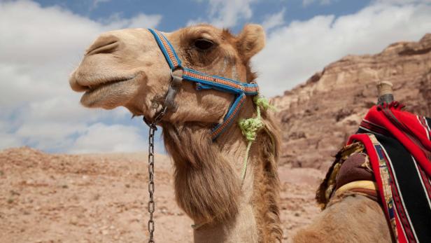
<path id="1" fill-rule="evenodd" d="M 163 125 L 163 138 L 175 162 L 179 206 L 195 221 L 223 221 L 238 211 L 240 184 L 211 141 L 210 129 L 196 124 Z"/>

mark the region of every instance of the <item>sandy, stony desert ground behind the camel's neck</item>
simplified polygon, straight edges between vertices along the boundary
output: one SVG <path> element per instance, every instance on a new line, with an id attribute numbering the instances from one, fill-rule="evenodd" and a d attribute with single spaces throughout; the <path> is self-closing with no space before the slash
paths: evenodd
<path id="1" fill-rule="evenodd" d="M 284 239 L 311 221 L 323 172 L 278 168 Z M 146 242 L 146 153 L 0 151 L 0 242 Z M 156 242 L 192 242 L 192 221 L 175 202 L 166 155 L 155 162 Z"/>

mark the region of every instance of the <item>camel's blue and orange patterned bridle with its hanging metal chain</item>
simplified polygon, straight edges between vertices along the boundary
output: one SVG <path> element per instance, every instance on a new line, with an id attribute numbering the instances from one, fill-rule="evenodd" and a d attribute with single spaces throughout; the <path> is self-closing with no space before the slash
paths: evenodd
<path id="1" fill-rule="evenodd" d="M 153 232 L 155 229 L 155 224 L 153 221 L 153 212 L 155 211 L 154 202 L 154 135 L 157 130 L 157 123 L 162 120 L 163 116 L 168 111 L 175 111 L 175 97 L 178 91 L 181 89 L 183 81 L 189 81 L 195 83 L 196 90 L 218 90 L 220 92 L 227 92 L 235 95 L 234 102 L 229 107 L 225 118 L 223 118 L 222 123 L 215 125 L 211 132 L 211 137 L 213 141 L 217 139 L 222 132 L 225 132 L 227 127 L 232 125 L 234 118 L 241 110 L 241 106 L 246 100 L 246 96 L 259 95 L 259 86 L 257 83 L 241 83 L 240 81 L 235 81 L 229 78 L 224 78 L 220 76 L 204 74 L 195 69 L 189 69 L 188 67 L 183 67 L 181 60 L 178 58 L 174 47 L 169 43 L 168 39 L 155 29 L 148 29 L 151 34 L 153 34 L 157 45 L 169 64 L 171 71 L 171 82 L 169 83 L 169 88 L 164 97 L 164 103 L 162 104 L 162 109 L 155 113 L 155 116 L 151 119 L 144 117 L 143 120 L 150 127 L 149 141 L 148 141 L 148 192 L 150 193 L 150 200 L 148 201 L 148 212 L 150 213 L 150 220 L 148 221 L 148 232 L 149 239 L 148 242 L 154 242 Z M 181 76 L 174 75 L 174 71 L 182 70 L 183 74 Z"/>

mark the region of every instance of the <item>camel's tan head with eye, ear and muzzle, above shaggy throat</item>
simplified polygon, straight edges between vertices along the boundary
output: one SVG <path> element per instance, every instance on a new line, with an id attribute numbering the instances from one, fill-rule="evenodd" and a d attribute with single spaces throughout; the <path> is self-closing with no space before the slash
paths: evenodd
<path id="1" fill-rule="evenodd" d="M 234 36 L 225 29 L 197 25 L 164 33 L 184 67 L 241 82 L 254 79 L 249 60 L 264 46 L 259 25 L 246 25 Z M 71 88 L 84 92 L 84 106 L 113 109 L 125 106 L 136 116 L 153 117 L 162 108 L 171 74 L 162 51 L 148 29 L 120 29 L 101 34 L 71 74 Z M 233 95 L 197 91 L 183 81 L 175 102 L 178 109 L 164 120 L 218 123 Z"/>

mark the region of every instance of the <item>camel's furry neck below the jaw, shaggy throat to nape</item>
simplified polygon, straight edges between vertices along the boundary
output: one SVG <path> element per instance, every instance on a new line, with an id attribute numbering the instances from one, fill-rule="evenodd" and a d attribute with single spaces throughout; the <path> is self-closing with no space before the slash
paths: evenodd
<path id="1" fill-rule="evenodd" d="M 252 109 L 244 111 L 240 117 L 253 117 Z M 163 134 L 174 158 L 178 205 L 196 224 L 205 223 L 194 231 L 195 242 L 280 241 L 279 181 L 268 134 L 261 132 L 251 146 L 243 181 L 247 142 L 237 125 L 215 143 L 197 124 L 167 124 Z"/>

